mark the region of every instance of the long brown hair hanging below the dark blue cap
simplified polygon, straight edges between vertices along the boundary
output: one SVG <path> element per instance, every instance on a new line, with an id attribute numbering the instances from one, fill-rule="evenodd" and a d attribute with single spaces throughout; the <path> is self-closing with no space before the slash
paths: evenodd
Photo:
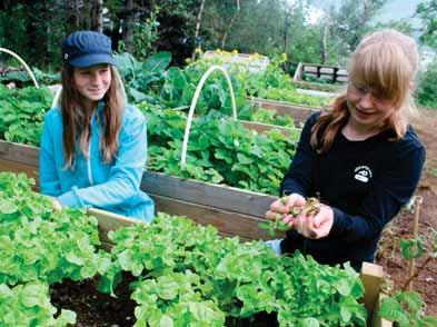
<path id="1" fill-rule="evenodd" d="M 118 136 L 121 129 L 121 119 L 126 102 L 125 89 L 117 68 L 109 66 L 111 70 L 111 83 L 105 95 L 103 115 L 98 123 L 101 123 L 103 133 L 100 139 L 100 148 L 105 162 L 111 162 L 118 151 Z M 61 71 L 62 93 L 61 111 L 63 122 L 63 150 L 66 167 L 73 169 L 75 151 L 78 145 L 86 158 L 89 158 L 89 142 L 91 138 L 92 112 L 82 103 L 82 98 L 76 88 L 73 79 L 75 68 L 64 63 Z"/>

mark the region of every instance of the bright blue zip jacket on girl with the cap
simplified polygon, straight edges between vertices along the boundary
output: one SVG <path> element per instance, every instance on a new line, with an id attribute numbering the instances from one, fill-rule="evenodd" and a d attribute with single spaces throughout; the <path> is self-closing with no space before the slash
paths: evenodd
<path id="1" fill-rule="evenodd" d="M 62 113 L 53 107 L 44 116 L 40 148 L 40 190 L 56 197 L 62 206 L 95 207 L 150 221 L 155 216 L 151 198 L 140 190 L 147 160 L 146 118 L 126 105 L 119 133 L 119 148 L 112 162 L 105 162 L 100 148 L 103 102 L 91 119 L 89 159 L 76 146 L 73 168 L 64 168 Z M 101 120 L 100 120 L 101 121 Z"/>

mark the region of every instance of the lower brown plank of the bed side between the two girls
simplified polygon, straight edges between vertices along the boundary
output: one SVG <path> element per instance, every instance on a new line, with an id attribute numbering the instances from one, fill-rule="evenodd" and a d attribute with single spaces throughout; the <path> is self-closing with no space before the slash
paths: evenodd
<path id="1" fill-rule="evenodd" d="M 226 235 L 238 235 L 244 239 L 271 239 L 285 236 L 284 234 L 278 234 L 276 237 L 271 237 L 266 230 L 260 229 L 258 224 L 266 221 L 265 218 L 220 210 L 153 194 L 150 194 L 150 196 L 155 200 L 158 211 L 187 216 L 200 225 L 212 225 Z"/>

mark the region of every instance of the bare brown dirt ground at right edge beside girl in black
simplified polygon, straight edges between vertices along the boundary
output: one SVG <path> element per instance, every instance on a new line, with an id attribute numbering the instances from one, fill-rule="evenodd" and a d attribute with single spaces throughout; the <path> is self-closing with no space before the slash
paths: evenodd
<path id="1" fill-rule="evenodd" d="M 420 116 L 413 120 L 413 127 L 427 151 L 425 171 L 417 190 L 417 196 L 423 197 L 418 234 L 429 239 L 430 229 L 437 229 L 437 110 L 423 108 L 420 111 Z M 395 290 L 401 289 L 408 280 L 409 268 L 399 252 L 399 238 L 413 238 L 414 217 L 406 210 L 400 212 L 384 231 L 379 245 L 377 264 L 384 266 L 387 277 L 394 281 Z M 427 256 L 417 260 L 415 269 L 424 264 Z M 413 290 L 424 298 L 426 314 L 437 316 L 437 260 L 431 259 L 423 270 L 417 271 L 420 272 L 413 280 Z"/>

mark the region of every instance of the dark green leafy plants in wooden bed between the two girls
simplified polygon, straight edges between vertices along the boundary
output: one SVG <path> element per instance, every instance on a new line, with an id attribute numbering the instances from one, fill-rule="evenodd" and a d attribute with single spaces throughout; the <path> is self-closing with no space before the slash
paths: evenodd
<path id="1" fill-rule="evenodd" d="M 277 129 L 257 135 L 240 122 L 210 111 L 193 119 L 187 164 L 181 167 L 186 115 L 159 110 L 146 102 L 139 108 L 149 126 L 150 170 L 258 192 L 277 194 L 299 138 L 298 131 L 285 137 Z"/>

